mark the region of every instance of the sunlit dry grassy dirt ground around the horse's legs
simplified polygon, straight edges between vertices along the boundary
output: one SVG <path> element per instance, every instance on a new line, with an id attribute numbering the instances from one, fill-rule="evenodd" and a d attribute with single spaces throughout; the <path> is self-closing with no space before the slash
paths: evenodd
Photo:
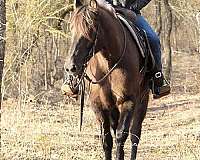
<path id="1" fill-rule="evenodd" d="M 172 94 L 150 101 L 138 160 L 200 160 L 200 56 L 173 58 Z M 84 108 L 80 132 L 78 105 L 58 100 L 61 95 L 54 90 L 42 95 L 3 102 L 0 159 L 102 160 L 92 111 Z M 125 156 L 129 159 L 129 139 Z"/>

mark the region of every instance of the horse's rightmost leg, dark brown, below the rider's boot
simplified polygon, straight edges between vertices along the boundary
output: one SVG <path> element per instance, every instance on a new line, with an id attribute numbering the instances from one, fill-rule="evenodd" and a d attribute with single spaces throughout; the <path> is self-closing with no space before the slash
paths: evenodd
<path id="1" fill-rule="evenodd" d="M 130 129 L 130 137 L 132 143 L 131 160 L 136 160 L 137 147 L 141 136 L 142 122 L 146 115 L 148 100 L 149 95 L 146 95 L 142 102 L 139 105 L 135 106 L 135 110 L 133 113 L 133 121 L 131 123 Z"/>

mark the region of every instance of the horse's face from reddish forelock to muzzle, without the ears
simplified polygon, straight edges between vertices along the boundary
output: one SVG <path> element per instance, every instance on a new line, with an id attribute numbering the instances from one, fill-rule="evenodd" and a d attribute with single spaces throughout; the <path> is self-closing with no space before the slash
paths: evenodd
<path id="1" fill-rule="evenodd" d="M 66 63 L 66 68 L 73 75 L 80 75 L 82 73 L 83 66 L 92 52 L 96 37 L 95 12 L 81 10 L 85 10 L 85 7 L 77 9 L 72 17 L 70 27 L 72 33 L 69 49 L 70 59 Z"/>

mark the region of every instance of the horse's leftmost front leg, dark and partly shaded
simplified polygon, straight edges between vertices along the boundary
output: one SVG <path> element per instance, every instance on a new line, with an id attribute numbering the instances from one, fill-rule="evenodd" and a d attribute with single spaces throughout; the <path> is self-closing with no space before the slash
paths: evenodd
<path id="1" fill-rule="evenodd" d="M 105 153 L 105 160 L 112 159 L 112 147 L 113 138 L 110 132 L 110 112 L 107 109 L 103 109 L 100 105 L 93 105 L 94 112 L 97 120 L 101 126 L 101 139 L 103 144 L 103 149 Z"/>

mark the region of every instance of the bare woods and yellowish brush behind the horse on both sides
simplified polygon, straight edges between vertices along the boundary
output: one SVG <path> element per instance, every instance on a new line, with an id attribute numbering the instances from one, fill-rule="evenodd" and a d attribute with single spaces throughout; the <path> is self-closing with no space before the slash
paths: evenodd
<path id="1" fill-rule="evenodd" d="M 70 3 L 66 0 L 7 1 L 4 98 L 35 96 L 63 78 L 63 62 L 70 40 L 68 17 L 63 30 L 58 30 L 57 24 Z M 170 49 L 172 54 L 200 54 L 199 6 L 198 0 L 163 0 L 152 1 L 144 9 L 145 17 L 160 35 L 165 66 L 169 63 Z"/>

